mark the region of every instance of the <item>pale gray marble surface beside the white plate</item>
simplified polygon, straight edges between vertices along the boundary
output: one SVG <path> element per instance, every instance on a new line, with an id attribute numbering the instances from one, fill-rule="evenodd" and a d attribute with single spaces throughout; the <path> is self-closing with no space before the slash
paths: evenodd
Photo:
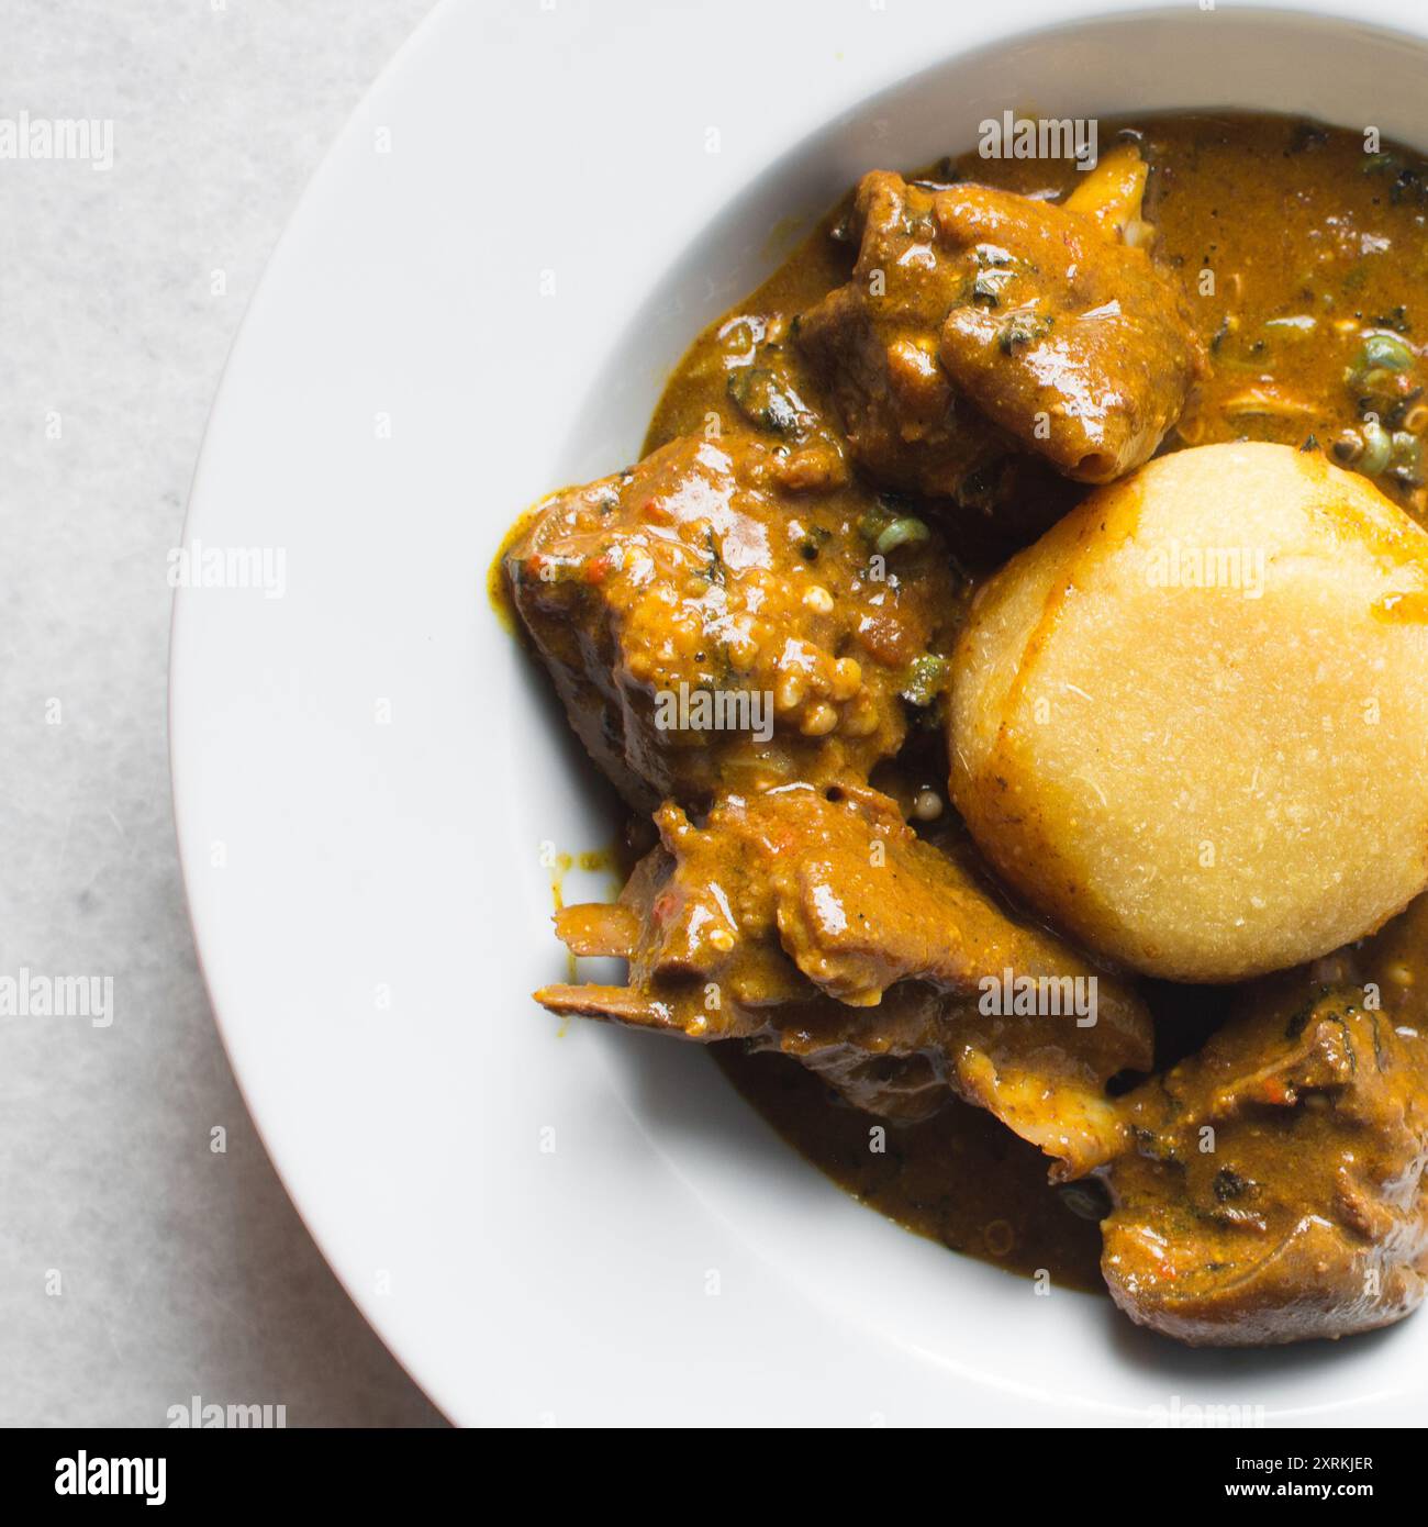
<path id="1" fill-rule="evenodd" d="M 165 734 L 165 553 L 225 356 L 429 5 L 0 6 L 0 980 L 118 994 L 108 1026 L 0 1011 L 8 1425 L 162 1426 L 192 1396 L 292 1426 L 440 1422 L 249 1122 L 194 959 Z M 21 113 L 111 121 L 111 166 L 6 157 Z"/>

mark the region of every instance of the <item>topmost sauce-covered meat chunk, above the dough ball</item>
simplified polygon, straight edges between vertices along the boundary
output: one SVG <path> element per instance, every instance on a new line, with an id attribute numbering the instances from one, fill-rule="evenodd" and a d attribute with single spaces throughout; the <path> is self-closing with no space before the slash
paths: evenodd
<path id="1" fill-rule="evenodd" d="M 1144 173 L 1118 153 L 1069 206 L 863 177 L 852 279 L 799 342 L 877 481 L 987 507 L 1023 452 L 1081 483 L 1149 460 L 1205 357 L 1174 282 L 1119 241 Z"/>

